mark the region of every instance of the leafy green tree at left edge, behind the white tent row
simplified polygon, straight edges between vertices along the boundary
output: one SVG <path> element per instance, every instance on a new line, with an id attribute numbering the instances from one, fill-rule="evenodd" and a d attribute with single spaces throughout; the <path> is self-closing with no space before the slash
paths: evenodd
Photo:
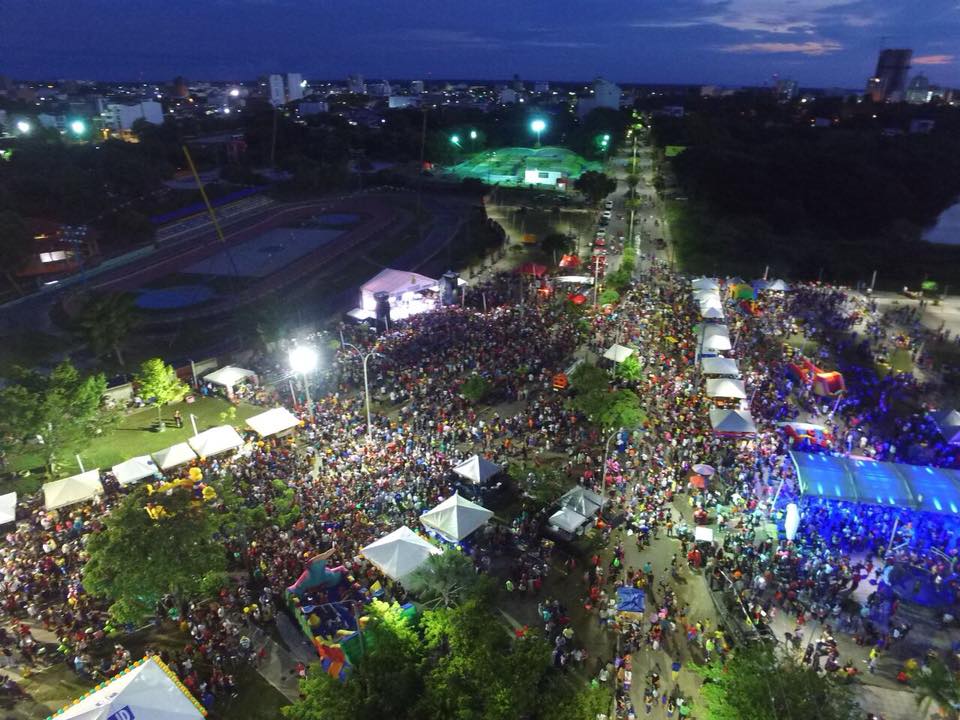
<path id="1" fill-rule="evenodd" d="M 103 407 L 107 380 L 102 374 L 81 376 L 68 361 L 49 375 L 18 369 L 13 383 L 0 390 L 0 437 L 5 449 L 23 449 L 42 441 L 47 471 L 117 415 Z"/>

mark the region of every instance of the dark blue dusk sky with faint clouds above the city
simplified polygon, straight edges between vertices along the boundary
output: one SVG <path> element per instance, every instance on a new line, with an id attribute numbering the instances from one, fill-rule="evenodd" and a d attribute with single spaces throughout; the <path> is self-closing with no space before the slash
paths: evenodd
<path id="1" fill-rule="evenodd" d="M 4 0 L 0 74 L 860 88 L 881 42 L 960 86 L 960 0 Z"/>

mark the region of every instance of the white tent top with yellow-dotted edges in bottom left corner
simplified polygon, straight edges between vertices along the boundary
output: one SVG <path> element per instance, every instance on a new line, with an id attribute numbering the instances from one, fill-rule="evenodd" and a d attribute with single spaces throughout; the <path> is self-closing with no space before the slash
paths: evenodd
<path id="1" fill-rule="evenodd" d="M 203 720 L 205 716 L 173 671 L 151 655 L 47 720 Z"/>

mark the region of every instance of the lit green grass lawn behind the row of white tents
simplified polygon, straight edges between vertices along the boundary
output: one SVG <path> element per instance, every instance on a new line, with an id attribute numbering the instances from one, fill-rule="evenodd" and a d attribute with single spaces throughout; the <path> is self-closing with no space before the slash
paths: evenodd
<path id="1" fill-rule="evenodd" d="M 248 417 L 263 412 L 263 408 L 240 403 L 237 406 L 236 416 L 225 421 L 220 415 L 230 407 L 232 406 L 229 402 L 220 398 L 201 398 L 193 404 L 182 402 L 168 405 L 163 409 L 163 417 L 167 423 L 167 429 L 164 432 L 153 430 L 157 421 L 156 408 L 143 408 L 124 415 L 117 427 L 99 437 L 91 438 L 90 442 L 82 447 L 71 448 L 70 453 L 79 453 L 83 466 L 88 470 L 106 469 L 136 455 L 146 455 L 183 442 L 193 435 L 193 427 L 190 424 L 191 413 L 197 418 L 197 430 L 203 432 L 215 425 L 223 425 L 225 422 L 242 427 L 243 421 Z M 173 413 L 176 410 L 183 415 L 182 428 L 173 426 Z M 0 483 L 0 489 L 3 492 L 16 490 L 21 494 L 32 493 L 50 479 L 43 475 L 43 459 L 39 453 L 26 452 L 11 456 L 9 460 L 10 470 L 30 471 L 30 475 L 16 480 L 6 478 L 5 482 Z M 79 471 L 80 468 L 74 465 L 68 467 L 60 476 L 65 477 Z"/>

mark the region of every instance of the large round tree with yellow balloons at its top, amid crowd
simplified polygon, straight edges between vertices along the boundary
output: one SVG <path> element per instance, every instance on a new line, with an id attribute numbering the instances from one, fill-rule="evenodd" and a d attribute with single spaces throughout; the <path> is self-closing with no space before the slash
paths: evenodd
<path id="1" fill-rule="evenodd" d="M 107 516 L 106 528 L 90 535 L 84 587 L 109 599 L 119 622 L 142 622 L 164 595 L 193 600 L 224 582 L 226 555 L 216 531 L 192 488 L 138 487 Z"/>

